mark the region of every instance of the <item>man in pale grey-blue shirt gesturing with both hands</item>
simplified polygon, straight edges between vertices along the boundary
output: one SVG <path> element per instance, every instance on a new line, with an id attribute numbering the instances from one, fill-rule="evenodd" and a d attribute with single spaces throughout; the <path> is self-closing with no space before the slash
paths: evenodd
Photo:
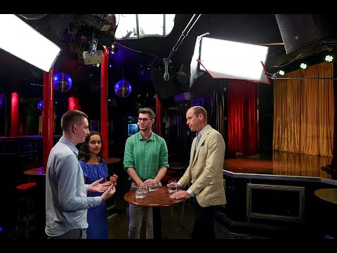
<path id="1" fill-rule="evenodd" d="M 114 195 L 114 184 L 103 178 L 84 184 L 75 145 L 89 134 L 88 116 L 79 110 L 62 115 L 62 137 L 51 149 L 46 168 L 46 234 L 53 239 L 86 239 L 87 209 L 100 205 Z M 103 193 L 88 197 L 87 192 Z"/>

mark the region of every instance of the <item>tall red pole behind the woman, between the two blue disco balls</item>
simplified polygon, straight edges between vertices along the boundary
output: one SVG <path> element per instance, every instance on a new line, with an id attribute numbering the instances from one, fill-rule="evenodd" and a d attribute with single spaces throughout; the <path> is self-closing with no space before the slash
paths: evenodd
<path id="1" fill-rule="evenodd" d="M 100 65 L 100 135 L 104 145 L 103 155 L 105 159 L 109 155 L 109 142 L 107 135 L 107 83 L 108 83 L 108 63 L 109 50 L 105 47 L 103 52 L 103 62 Z"/>

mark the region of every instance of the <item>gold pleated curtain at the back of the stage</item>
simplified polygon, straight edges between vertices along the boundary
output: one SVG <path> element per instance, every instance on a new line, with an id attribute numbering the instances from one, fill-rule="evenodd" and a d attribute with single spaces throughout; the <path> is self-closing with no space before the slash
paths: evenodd
<path id="1" fill-rule="evenodd" d="M 332 157 L 333 63 L 319 63 L 284 77 L 290 79 L 273 82 L 272 149 Z"/>

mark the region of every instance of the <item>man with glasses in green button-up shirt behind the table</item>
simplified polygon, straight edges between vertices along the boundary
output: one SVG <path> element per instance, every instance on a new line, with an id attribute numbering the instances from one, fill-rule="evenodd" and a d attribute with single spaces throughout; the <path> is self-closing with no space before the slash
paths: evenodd
<path id="1" fill-rule="evenodd" d="M 167 146 L 164 138 L 152 132 L 152 124 L 156 115 L 150 108 L 138 110 L 138 126 L 140 131 L 126 139 L 124 150 L 124 169 L 131 180 L 131 189 L 137 186 L 148 186 L 157 183 L 165 176 L 168 163 Z M 128 238 L 140 239 L 140 228 L 146 220 L 146 238 L 153 239 L 152 207 L 140 207 L 129 204 Z"/>

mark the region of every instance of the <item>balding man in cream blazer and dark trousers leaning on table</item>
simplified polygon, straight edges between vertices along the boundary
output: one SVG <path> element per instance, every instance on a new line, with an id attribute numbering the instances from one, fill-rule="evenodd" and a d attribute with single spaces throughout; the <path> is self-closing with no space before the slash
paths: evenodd
<path id="1" fill-rule="evenodd" d="M 214 214 L 216 206 L 225 205 L 223 188 L 223 160 L 225 141 L 223 136 L 207 124 L 207 112 L 194 106 L 186 112 L 187 125 L 197 132 L 191 147 L 190 165 L 178 181 L 178 190 L 172 199 L 192 197 L 195 221 L 192 240 L 215 239 Z"/>

